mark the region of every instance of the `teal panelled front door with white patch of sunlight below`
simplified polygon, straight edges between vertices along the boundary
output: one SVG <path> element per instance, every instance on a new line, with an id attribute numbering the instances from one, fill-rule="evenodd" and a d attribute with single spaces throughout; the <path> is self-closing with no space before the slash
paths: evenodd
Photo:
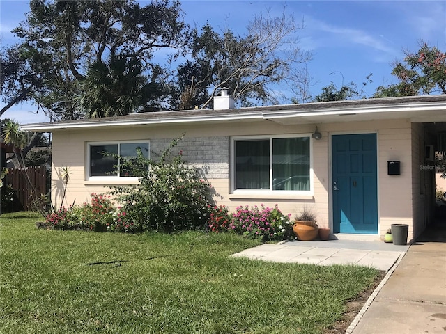
<path id="1" fill-rule="evenodd" d="M 334 233 L 378 233 L 376 134 L 332 136 Z"/>

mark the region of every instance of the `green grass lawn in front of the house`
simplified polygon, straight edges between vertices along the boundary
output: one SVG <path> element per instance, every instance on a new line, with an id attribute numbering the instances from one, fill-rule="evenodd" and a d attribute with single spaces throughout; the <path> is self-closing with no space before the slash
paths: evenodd
<path id="1" fill-rule="evenodd" d="M 1 333 L 323 333 L 378 276 L 231 258 L 259 244 L 233 234 L 37 230 L 38 220 L 0 216 Z"/>

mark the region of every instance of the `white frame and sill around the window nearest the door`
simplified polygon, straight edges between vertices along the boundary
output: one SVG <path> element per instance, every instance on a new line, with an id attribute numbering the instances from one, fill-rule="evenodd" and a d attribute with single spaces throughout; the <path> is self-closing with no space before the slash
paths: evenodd
<path id="1" fill-rule="evenodd" d="M 270 153 L 270 189 L 236 189 L 236 166 L 234 156 L 235 143 L 240 140 L 256 140 L 256 139 L 268 139 L 270 141 L 270 152 L 272 152 L 272 139 L 275 138 L 304 138 L 307 137 L 310 139 L 309 141 L 309 190 L 272 190 L 272 154 Z M 264 135 L 264 136 L 233 136 L 231 137 L 231 152 L 230 152 L 230 184 L 231 190 L 230 194 L 233 195 L 256 195 L 256 196 L 264 196 L 264 195 L 274 195 L 274 196 L 313 196 L 314 194 L 314 172 L 313 172 L 313 138 L 312 134 L 278 134 L 278 135 Z"/>

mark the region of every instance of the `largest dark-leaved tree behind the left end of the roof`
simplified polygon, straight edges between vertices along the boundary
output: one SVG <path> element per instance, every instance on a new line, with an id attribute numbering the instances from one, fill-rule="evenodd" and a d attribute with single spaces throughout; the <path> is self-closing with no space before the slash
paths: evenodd
<path id="1" fill-rule="evenodd" d="M 155 51 L 169 49 L 175 58 L 190 37 L 178 1 L 155 0 L 141 7 L 134 0 L 31 0 L 30 9 L 13 30 L 22 42 L 3 54 L 20 54 L 24 73 L 39 80 L 31 85 L 33 94 L 20 97 L 28 86 L 6 79 L 2 97 L 6 104 L 32 100 L 54 120 L 79 118 L 72 97 L 82 93 L 79 81 L 91 64 L 105 63 L 107 56 L 134 58 L 149 81 L 157 81 L 162 71 L 152 63 Z M 2 69 L 8 78 L 20 78 L 22 72 L 8 73 Z"/>

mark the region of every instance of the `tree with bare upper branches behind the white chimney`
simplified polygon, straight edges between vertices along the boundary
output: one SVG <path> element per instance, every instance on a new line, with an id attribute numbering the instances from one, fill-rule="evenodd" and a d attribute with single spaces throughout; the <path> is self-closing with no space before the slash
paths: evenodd
<path id="1" fill-rule="evenodd" d="M 220 34 L 209 24 L 201 33 L 195 29 L 192 60 L 178 67 L 172 104 L 180 109 L 207 108 L 222 87 L 228 87 L 241 106 L 254 101 L 279 103 L 275 85 L 293 86 L 301 79 L 298 67 L 311 58 L 298 47 L 300 29 L 285 13 L 281 17 L 257 15 L 245 36 L 229 29 Z"/>

